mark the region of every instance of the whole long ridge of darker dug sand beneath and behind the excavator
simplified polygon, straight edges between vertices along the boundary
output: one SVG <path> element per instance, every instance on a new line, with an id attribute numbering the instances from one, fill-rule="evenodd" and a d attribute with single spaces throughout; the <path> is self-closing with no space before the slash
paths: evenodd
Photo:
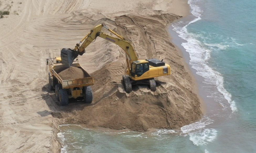
<path id="1" fill-rule="evenodd" d="M 73 12 L 63 20 L 68 24 L 74 24 L 76 20 L 86 23 L 83 27 L 91 28 L 100 23 L 106 24 L 133 42 L 140 59 L 157 58 L 170 64 L 172 75 L 156 78 L 158 84 L 155 92 L 143 85 L 135 86 L 128 94 L 120 81 L 125 74 L 125 53 L 115 44 L 97 39 L 97 44 L 90 45 L 86 56 L 80 58 L 80 63 L 89 63 L 86 71 L 93 72 L 94 105 L 76 111 L 76 115 L 68 114 L 69 117 L 63 118 L 62 123 L 147 131 L 150 128 L 180 128 L 201 117 L 200 101 L 193 92 L 192 79 L 169 41 L 167 32 L 163 30 L 180 16 L 158 11 L 151 13 L 153 15 L 113 16 L 107 20 Z"/>

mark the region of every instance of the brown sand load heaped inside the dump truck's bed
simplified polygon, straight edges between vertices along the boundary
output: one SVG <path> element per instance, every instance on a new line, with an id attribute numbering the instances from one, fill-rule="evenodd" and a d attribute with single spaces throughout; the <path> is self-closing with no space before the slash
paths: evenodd
<path id="1" fill-rule="evenodd" d="M 73 80 L 85 77 L 82 69 L 73 66 L 60 72 L 59 76 L 62 78 L 62 80 Z"/>

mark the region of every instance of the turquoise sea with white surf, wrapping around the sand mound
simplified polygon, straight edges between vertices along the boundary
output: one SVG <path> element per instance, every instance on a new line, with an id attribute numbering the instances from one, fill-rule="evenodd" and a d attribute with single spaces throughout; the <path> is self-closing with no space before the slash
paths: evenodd
<path id="1" fill-rule="evenodd" d="M 180 130 L 146 133 L 60 125 L 61 152 L 256 152 L 256 1 L 189 0 L 170 26 L 206 113 Z"/>

